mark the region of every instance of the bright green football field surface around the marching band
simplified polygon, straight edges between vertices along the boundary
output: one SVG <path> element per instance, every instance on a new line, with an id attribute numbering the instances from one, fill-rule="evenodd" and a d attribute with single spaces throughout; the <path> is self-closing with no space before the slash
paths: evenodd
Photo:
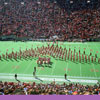
<path id="1" fill-rule="evenodd" d="M 52 42 L 49 42 L 52 44 Z M 19 51 L 20 47 L 22 50 L 30 49 L 33 45 L 33 48 L 47 46 L 47 42 L 0 42 L 0 54 L 13 51 Z M 55 44 L 56 45 L 56 44 Z M 92 54 L 95 56 L 98 51 L 98 58 L 100 58 L 100 42 L 58 42 L 58 46 L 69 49 L 71 48 L 76 52 L 81 50 L 83 53 L 84 48 L 86 48 L 86 54 L 90 54 L 90 49 L 92 49 Z M 82 84 L 96 84 L 100 81 L 100 64 L 88 62 L 80 63 L 73 62 L 70 60 L 59 60 L 50 57 L 52 65 L 49 66 L 38 66 L 36 61 L 37 58 L 33 59 L 22 59 L 22 60 L 2 60 L 0 61 L 0 80 L 1 81 L 16 81 L 14 74 L 18 74 L 18 79 L 22 82 L 37 82 L 40 83 L 50 83 L 56 81 L 56 83 L 82 83 Z M 34 67 L 37 67 L 36 76 L 37 79 L 33 77 Z M 64 74 L 67 73 L 68 80 L 64 79 Z M 42 80 L 42 81 L 41 81 Z"/>

